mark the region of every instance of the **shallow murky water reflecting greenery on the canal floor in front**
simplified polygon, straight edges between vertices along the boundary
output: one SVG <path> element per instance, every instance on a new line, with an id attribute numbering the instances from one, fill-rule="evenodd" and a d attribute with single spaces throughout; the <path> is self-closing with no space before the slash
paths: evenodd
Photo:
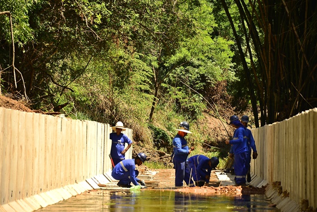
<path id="1" fill-rule="evenodd" d="M 163 190 L 94 191 L 37 211 L 279 211 L 265 195 L 198 196 Z"/>

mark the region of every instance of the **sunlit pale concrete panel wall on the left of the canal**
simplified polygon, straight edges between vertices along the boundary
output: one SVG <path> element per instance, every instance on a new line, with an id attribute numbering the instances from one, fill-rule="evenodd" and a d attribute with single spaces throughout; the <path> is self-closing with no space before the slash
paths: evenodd
<path id="1" fill-rule="evenodd" d="M 110 132 L 109 124 L 0 107 L 0 211 L 31 212 L 113 180 Z"/>

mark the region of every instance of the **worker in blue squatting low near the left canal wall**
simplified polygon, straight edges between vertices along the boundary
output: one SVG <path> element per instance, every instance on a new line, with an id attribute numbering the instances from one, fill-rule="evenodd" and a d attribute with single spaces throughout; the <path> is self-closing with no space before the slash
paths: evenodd
<path id="1" fill-rule="evenodd" d="M 146 161 L 146 155 L 143 152 L 137 154 L 134 159 L 122 160 L 112 169 L 111 176 L 119 180 L 117 185 L 120 187 L 131 187 L 131 182 L 134 185 L 145 185 L 137 178 L 139 171 L 135 170 L 135 165 L 141 166 L 144 161 Z"/>

